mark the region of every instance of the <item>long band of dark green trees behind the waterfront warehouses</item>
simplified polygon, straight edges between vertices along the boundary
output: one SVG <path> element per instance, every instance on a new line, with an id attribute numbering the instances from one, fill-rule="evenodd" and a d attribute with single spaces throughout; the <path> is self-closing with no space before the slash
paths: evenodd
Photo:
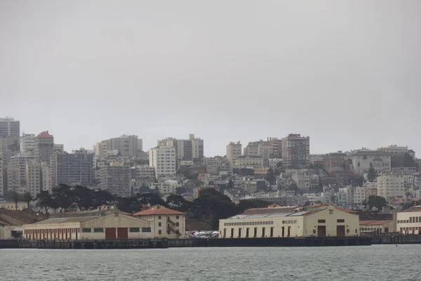
<path id="1" fill-rule="evenodd" d="M 90 210 L 96 209 L 104 204 L 114 205 L 117 209 L 133 214 L 142 209 L 143 206 L 151 207 L 160 204 L 164 207 L 170 207 L 187 214 L 187 218 L 195 218 L 201 221 L 207 221 L 214 229 L 218 229 L 218 223 L 221 218 L 228 218 L 240 214 L 246 209 L 266 207 L 269 202 L 263 200 L 241 200 L 239 204 L 234 204 L 227 195 L 206 188 L 199 192 L 199 197 L 194 201 L 185 200 L 181 195 L 168 195 L 166 202 L 158 193 L 144 192 L 133 197 L 121 197 L 112 195 L 106 190 L 91 190 L 89 188 L 76 185 L 59 185 L 48 191 L 41 191 L 36 198 L 30 194 L 18 195 L 11 194 L 16 204 L 19 200 L 25 202 L 36 201 L 38 207 L 46 212 L 48 209 L 65 211 Z M 18 198 L 18 199 L 17 199 Z"/>

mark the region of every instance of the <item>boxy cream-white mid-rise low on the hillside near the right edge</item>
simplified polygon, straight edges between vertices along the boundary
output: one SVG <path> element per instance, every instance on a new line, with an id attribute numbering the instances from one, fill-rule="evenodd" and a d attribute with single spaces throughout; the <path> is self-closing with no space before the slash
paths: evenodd
<path id="1" fill-rule="evenodd" d="M 389 200 L 390 197 L 405 195 L 405 176 L 383 174 L 377 177 L 377 195 Z"/>

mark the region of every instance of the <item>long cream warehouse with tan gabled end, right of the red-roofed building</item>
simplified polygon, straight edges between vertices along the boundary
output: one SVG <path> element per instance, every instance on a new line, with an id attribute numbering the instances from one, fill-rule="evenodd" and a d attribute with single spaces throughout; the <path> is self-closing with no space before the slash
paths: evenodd
<path id="1" fill-rule="evenodd" d="M 359 236 L 359 229 L 355 211 L 328 204 L 220 220 L 222 238 Z"/>

